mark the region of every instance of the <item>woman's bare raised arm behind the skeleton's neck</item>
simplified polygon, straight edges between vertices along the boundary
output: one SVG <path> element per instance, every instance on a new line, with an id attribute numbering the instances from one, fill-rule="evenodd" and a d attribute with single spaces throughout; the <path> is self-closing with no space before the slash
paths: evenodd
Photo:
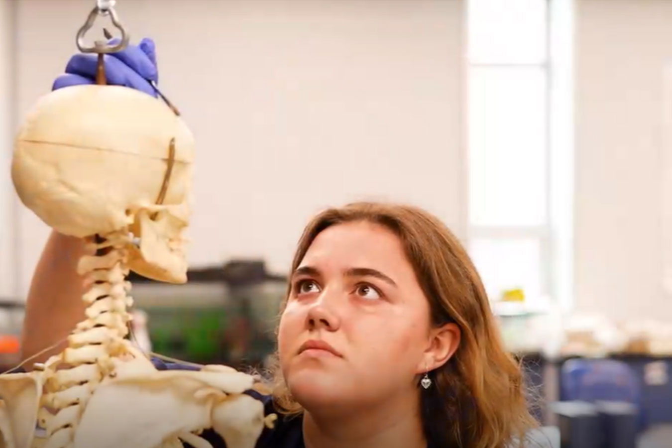
<path id="1" fill-rule="evenodd" d="M 22 356 L 26 359 L 67 337 L 84 318 L 83 278 L 77 275 L 77 263 L 85 254 L 84 240 L 52 232 L 35 269 L 22 332 Z M 26 363 L 44 362 L 65 348 L 65 341 Z"/>

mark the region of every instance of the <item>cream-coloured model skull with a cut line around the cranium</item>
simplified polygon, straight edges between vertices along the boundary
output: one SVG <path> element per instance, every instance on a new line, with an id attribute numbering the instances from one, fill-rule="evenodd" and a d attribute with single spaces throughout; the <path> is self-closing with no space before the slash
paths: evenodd
<path id="1" fill-rule="evenodd" d="M 194 138 L 146 93 L 78 85 L 40 98 L 15 139 L 12 181 L 54 230 L 80 238 L 128 228 L 132 271 L 183 283 Z"/>

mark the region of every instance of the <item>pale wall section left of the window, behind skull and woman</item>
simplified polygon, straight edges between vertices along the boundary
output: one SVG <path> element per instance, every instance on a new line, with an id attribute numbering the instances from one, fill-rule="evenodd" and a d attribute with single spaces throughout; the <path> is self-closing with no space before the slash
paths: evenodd
<path id="1" fill-rule="evenodd" d="M 76 52 L 93 0 L 17 0 L 17 116 Z M 458 0 L 121 0 L 198 139 L 193 266 L 284 272 L 311 214 L 388 197 L 463 232 Z M 3 223 L 9 217 L 3 217 Z M 19 212 L 24 294 L 48 229 Z M 4 224 L 0 224 L 4 225 Z"/>

